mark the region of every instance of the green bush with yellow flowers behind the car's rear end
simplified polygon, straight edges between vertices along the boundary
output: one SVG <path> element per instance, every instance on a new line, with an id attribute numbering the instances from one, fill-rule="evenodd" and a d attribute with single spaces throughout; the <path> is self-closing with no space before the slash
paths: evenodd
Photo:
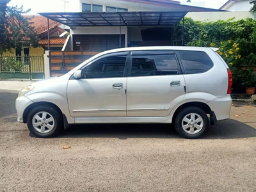
<path id="1" fill-rule="evenodd" d="M 177 36 L 180 33 L 182 36 L 182 22 L 178 33 Z M 249 85 L 256 86 L 252 70 L 252 67 L 256 67 L 256 20 L 200 22 L 186 18 L 184 42 L 188 46 L 219 47 L 219 54 L 232 70 L 236 92 L 244 92 Z"/>

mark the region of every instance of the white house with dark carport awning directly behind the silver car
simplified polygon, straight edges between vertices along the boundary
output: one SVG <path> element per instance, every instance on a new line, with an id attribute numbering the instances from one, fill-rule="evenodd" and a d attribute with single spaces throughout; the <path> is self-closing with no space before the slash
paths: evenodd
<path id="1" fill-rule="evenodd" d="M 70 26 L 65 51 L 176 45 L 170 33 L 186 13 L 218 11 L 169 0 L 74 0 L 73 4 L 77 5 L 74 13 L 40 13 Z"/>

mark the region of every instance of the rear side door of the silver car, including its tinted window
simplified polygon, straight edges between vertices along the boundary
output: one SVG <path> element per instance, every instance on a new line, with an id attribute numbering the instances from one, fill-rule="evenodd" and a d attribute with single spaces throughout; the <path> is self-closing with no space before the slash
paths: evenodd
<path id="1" fill-rule="evenodd" d="M 132 51 L 127 78 L 127 116 L 168 116 L 185 95 L 173 51 Z"/>

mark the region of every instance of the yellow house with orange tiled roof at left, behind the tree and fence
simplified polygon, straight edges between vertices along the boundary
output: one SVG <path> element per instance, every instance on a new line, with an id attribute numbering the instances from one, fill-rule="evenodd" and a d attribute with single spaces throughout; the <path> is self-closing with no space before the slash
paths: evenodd
<path id="1" fill-rule="evenodd" d="M 31 15 L 24 15 L 24 17 L 31 18 Z M 38 55 L 42 56 L 45 50 L 48 50 L 48 26 L 47 18 L 40 15 L 35 15 L 32 19 L 29 19 L 31 26 L 35 28 L 36 33 L 40 37 L 39 47 L 29 46 L 29 40 L 24 40 L 22 43 L 22 49 L 11 49 L 3 53 L 3 56 L 25 56 L 25 55 Z M 60 37 L 61 33 L 65 30 L 61 28 L 60 22 L 49 20 L 49 33 L 51 37 L 50 49 L 52 51 L 60 51 L 65 44 L 66 39 Z"/>

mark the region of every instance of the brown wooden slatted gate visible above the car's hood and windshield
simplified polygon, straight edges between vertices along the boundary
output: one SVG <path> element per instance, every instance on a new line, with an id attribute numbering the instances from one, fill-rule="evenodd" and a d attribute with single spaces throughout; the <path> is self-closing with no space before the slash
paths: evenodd
<path id="1" fill-rule="evenodd" d="M 49 51 L 50 76 L 61 76 L 99 52 Z"/>

